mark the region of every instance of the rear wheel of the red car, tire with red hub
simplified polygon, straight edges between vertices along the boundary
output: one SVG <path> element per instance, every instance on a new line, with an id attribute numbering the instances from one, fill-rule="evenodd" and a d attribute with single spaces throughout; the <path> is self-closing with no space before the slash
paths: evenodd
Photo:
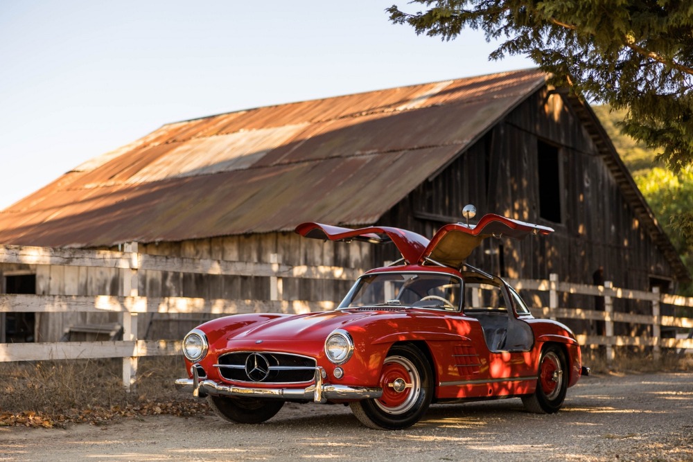
<path id="1" fill-rule="evenodd" d="M 527 411 L 534 414 L 558 412 L 568 390 L 568 373 L 563 349 L 558 345 L 545 346 L 539 357 L 536 391 L 522 398 Z"/>

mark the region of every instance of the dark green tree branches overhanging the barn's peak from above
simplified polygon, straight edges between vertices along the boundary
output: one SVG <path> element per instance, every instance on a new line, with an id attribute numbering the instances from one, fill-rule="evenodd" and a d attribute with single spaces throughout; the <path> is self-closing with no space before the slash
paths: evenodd
<path id="1" fill-rule="evenodd" d="M 693 3 L 690 0 L 413 0 L 395 24 L 449 40 L 463 28 L 505 40 L 491 53 L 527 55 L 597 104 L 674 172 L 693 165 Z"/>

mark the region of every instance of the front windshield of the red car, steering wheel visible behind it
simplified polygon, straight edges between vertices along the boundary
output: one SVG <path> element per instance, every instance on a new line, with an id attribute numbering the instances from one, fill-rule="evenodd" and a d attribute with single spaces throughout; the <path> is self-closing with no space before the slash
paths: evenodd
<path id="1" fill-rule="evenodd" d="M 459 311 L 462 283 L 449 274 L 380 273 L 362 276 L 339 308 L 411 306 Z"/>

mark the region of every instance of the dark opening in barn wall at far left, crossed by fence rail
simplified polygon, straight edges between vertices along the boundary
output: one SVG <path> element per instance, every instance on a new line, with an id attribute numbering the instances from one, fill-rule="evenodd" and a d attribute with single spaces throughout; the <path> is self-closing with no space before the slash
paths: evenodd
<path id="1" fill-rule="evenodd" d="M 3 292 L 6 294 L 35 294 L 36 275 L 5 276 Z M 10 312 L 0 316 L 0 343 L 19 344 L 36 341 L 36 313 Z"/>

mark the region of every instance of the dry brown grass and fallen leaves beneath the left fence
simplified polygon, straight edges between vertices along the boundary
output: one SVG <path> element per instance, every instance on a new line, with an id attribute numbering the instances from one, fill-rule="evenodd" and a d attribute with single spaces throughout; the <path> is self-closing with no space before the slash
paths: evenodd
<path id="1" fill-rule="evenodd" d="M 204 402 L 173 381 L 184 375 L 179 357 L 140 358 L 132 392 L 122 384 L 122 360 L 82 359 L 0 364 L 0 425 L 50 427 L 119 416 L 209 414 Z"/>

